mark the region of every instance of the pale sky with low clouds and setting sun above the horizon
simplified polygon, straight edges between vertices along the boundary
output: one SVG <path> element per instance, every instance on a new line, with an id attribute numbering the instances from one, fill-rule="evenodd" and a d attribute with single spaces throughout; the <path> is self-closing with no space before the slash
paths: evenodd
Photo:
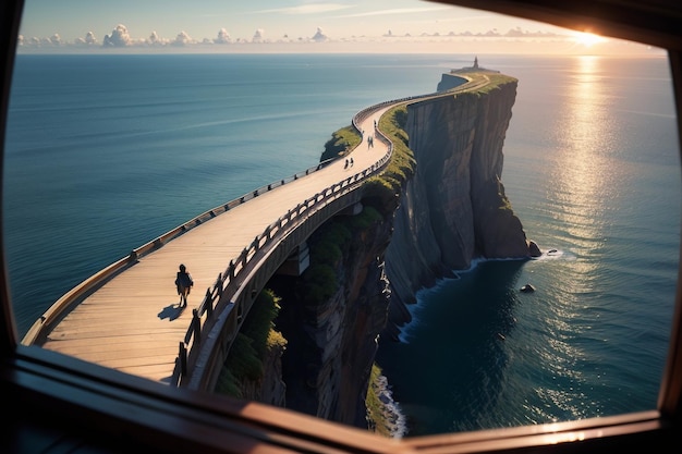
<path id="1" fill-rule="evenodd" d="M 423 0 L 25 0 L 20 52 L 648 53 Z"/>

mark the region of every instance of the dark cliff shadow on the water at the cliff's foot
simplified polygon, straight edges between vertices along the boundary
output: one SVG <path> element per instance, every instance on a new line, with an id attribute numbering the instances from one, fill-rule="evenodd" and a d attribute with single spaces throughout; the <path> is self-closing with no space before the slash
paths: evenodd
<path id="1" fill-rule="evenodd" d="M 524 263 L 485 261 L 419 292 L 406 342 L 381 343 L 377 363 L 407 418 L 409 437 L 490 427 L 506 384 L 514 307 L 532 297 L 519 291 Z"/>

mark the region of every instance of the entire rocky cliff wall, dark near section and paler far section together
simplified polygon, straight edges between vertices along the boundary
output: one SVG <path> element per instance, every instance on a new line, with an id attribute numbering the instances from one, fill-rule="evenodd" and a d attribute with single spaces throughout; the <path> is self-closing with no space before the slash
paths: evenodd
<path id="1" fill-rule="evenodd" d="M 475 257 L 533 254 L 500 182 L 515 94 L 509 78 L 488 93 L 411 106 L 405 130 L 417 165 L 397 205 L 375 200 L 374 211 L 334 218 L 309 240 L 310 268 L 272 280 L 288 408 L 365 426 L 377 339 L 409 321 L 415 292 Z M 279 383 L 273 375 L 264 382 Z"/>

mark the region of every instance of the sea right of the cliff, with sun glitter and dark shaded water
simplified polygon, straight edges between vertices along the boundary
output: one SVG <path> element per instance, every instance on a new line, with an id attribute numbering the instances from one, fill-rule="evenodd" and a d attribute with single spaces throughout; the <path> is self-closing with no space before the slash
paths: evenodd
<path id="1" fill-rule="evenodd" d="M 667 62 L 495 68 L 519 78 L 502 181 L 545 254 L 476 261 L 419 292 L 378 361 L 409 435 L 656 407 L 680 242 Z"/>

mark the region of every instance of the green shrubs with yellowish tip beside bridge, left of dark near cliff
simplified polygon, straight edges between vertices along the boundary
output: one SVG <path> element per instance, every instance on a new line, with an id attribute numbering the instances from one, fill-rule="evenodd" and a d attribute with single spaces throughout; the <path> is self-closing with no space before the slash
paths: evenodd
<path id="1" fill-rule="evenodd" d="M 242 397 L 243 383 L 263 379 L 263 360 L 268 352 L 285 347 L 287 340 L 275 331 L 273 323 L 280 309 L 279 300 L 270 290 L 260 292 L 230 348 L 216 393 Z"/>

